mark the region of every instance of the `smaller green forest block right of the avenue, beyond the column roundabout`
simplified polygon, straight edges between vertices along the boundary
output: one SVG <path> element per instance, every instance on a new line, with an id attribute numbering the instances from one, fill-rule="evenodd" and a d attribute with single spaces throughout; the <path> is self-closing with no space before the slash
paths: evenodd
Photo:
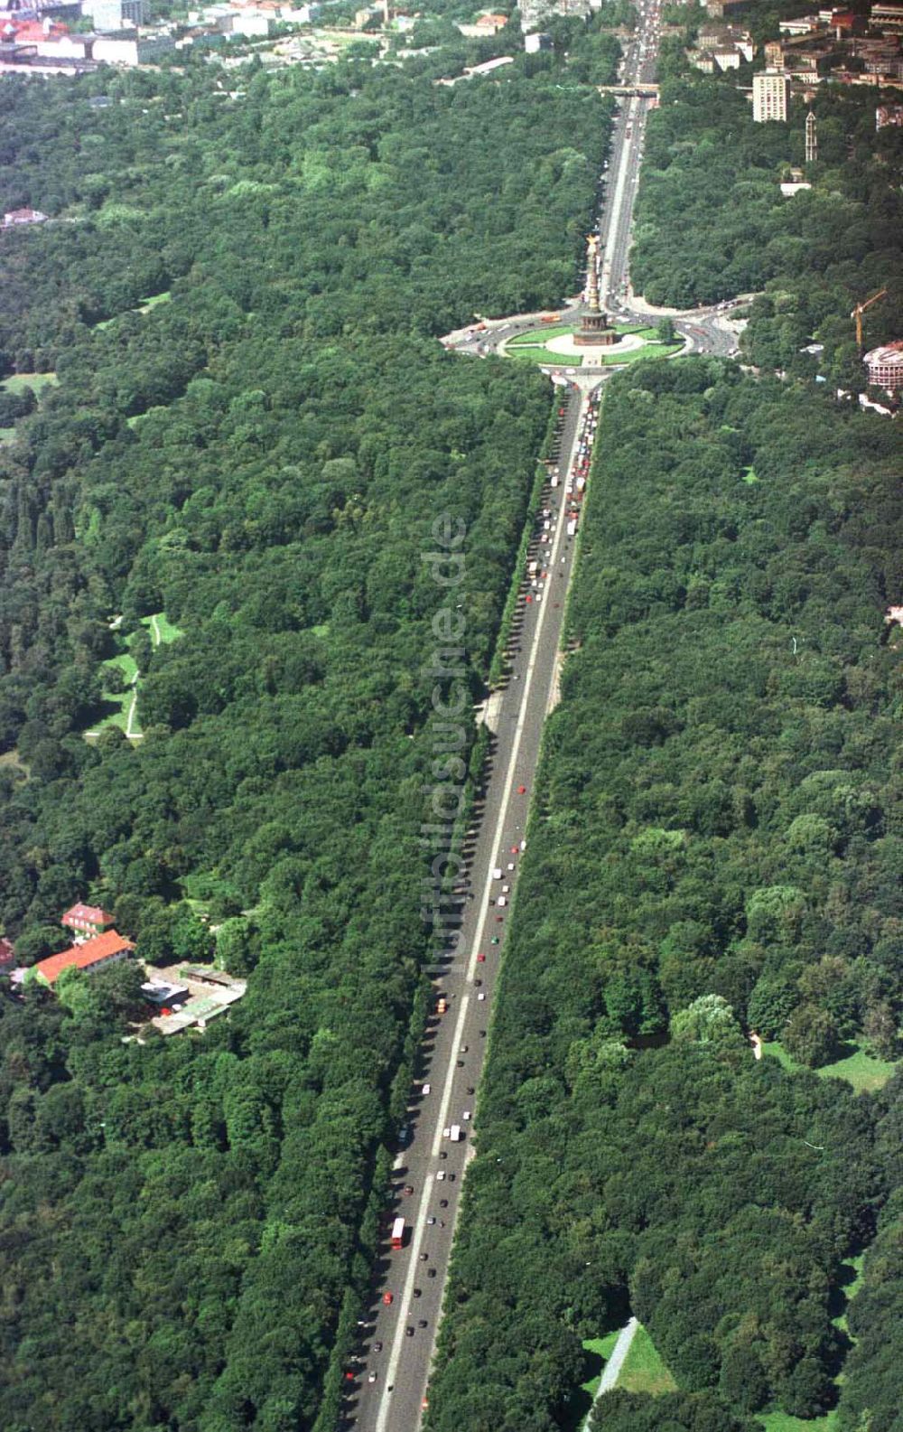
<path id="1" fill-rule="evenodd" d="M 877 90 L 823 86 L 811 105 L 811 189 L 784 198 L 781 178 L 803 166 L 807 106 L 794 100 L 786 125 L 756 125 L 734 79 L 687 77 L 678 56 L 665 56 L 661 105 L 648 119 L 635 291 L 677 308 L 761 294 L 743 335 L 751 364 L 863 390 L 853 305 L 887 288 L 864 315 L 866 344 L 903 332 L 902 132 L 876 133 Z M 801 351 L 813 339 L 821 355 Z"/>

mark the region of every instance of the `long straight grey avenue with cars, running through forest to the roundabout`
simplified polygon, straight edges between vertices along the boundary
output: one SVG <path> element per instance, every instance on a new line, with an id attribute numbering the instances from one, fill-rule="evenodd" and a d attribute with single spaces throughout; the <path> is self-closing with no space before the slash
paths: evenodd
<path id="1" fill-rule="evenodd" d="M 628 50 L 627 73 L 631 77 L 641 77 L 641 72 L 650 64 L 653 17 L 653 9 L 644 11 L 641 33 Z M 644 37 L 647 50 L 645 59 L 641 59 Z M 602 212 L 601 232 L 602 236 L 605 232 L 614 235 L 612 255 L 620 265 L 618 279 L 627 263 L 635 192 L 633 178 L 640 163 L 640 119 L 645 117 L 645 100 L 631 99 L 617 120 L 612 168 L 615 163 L 621 166 L 625 179 L 612 188 L 608 208 Z M 612 266 L 612 279 L 614 272 Z M 602 377 L 600 374 L 598 381 Z M 584 388 L 582 384 L 580 387 Z M 442 978 L 448 1012 L 431 1021 L 424 1047 L 424 1073 L 429 1093 L 424 1094 L 419 1083 L 412 1090 L 411 1140 L 395 1161 L 394 1211 L 405 1217 L 406 1243 L 401 1250 L 386 1250 L 376 1266 L 372 1306 L 361 1327 L 361 1362 L 353 1369 L 353 1383 L 348 1385 L 343 1425 L 355 1426 L 358 1432 L 416 1432 L 428 1396 L 429 1366 L 461 1183 L 471 1151 L 469 1114 L 475 1110 L 475 1091 L 485 1058 L 492 995 L 511 908 L 509 895 L 504 906 L 497 904 L 497 898 L 502 884 L 509 885 L 511 892 L 517 884 L 529 792 L 555 680 L 570 590 L 574 537 L 567 534 L 565 511 L 570 498 L 565 478 L 575 467 L 581 437 L 588 444 L 592 440 L 588 417 L 595 398 L 570 385 L 562 402 L 565 411 L 558 460 L 561 483 L 555 488 L 547 487 L 542 500 L 552 528 L 550 533 L 535 534 L 540 544 L 537 556 L 541 554 L 548 580 L 540 583 L 541 600 L 528 584 L 521 591 L 519 642 L 514 652 L 511 680 L 499 705 L 458 949 Z M 550 536 L 551 543 L 542 540 Z M 502 878 L 497 879 L 494 872 L 499 868 Z M 465 1113 L 468 1118 L 464 1117 Z M 451 1124 L 459 1124 L 464 1131 L 464 1138 L 458 1143 L 444 1137 L 444 1128 Z M 441 1154 L 446 1157 L 441 1158 Z M 405 1189 L 412 1193 L 405 1196 Z M 386 1302 L 389 1296 L 391 1302 Z M 374 1382 L 369 1380 L 371 1376 Z"/>

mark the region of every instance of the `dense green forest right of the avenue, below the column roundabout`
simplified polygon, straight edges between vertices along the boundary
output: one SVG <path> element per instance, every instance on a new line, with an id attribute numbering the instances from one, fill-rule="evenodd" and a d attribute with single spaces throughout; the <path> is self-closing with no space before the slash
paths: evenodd
<path id="1" fill-rule="evenodd" d="M 899 1184 L 902 1077 L 856 1095 L 747 1031 L 813 1068 L 900 1054 L 902 528 L 887 421 L 714 359 L 607 387 L 436 1432 L 565 1425 L 581 1340 L 628 1309 L 683 1390 L 605 1399 L 600 1428 L 836 1402 L 839 1267 Z M 897 1426 L 896 1229 L 851 1305 L 883 1332 L 844 1429 Z"/>

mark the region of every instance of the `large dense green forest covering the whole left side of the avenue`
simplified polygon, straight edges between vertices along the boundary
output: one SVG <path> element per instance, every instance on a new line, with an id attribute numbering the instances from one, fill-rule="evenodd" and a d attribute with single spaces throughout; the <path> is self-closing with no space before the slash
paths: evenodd
<path id="1" fill-rule="evenodd" d="M 0 82 L 3 205 L 52 216 L 3 371 L 59 379 L 0 448 L 0 918 L 24 964 L 76 898 L 157 964 L 213 925 L 249 977 L 143 1047 L 114 971 L 0 991 L 4 1432 L 332 1425 L 422 1021 L 421 554 L 465 523 L 477 697 L 550 414 L 434 335 L 572 292 L 607 143 L 541 59 Z M 126 639 L 143 739 L 89 743 Z"/>

